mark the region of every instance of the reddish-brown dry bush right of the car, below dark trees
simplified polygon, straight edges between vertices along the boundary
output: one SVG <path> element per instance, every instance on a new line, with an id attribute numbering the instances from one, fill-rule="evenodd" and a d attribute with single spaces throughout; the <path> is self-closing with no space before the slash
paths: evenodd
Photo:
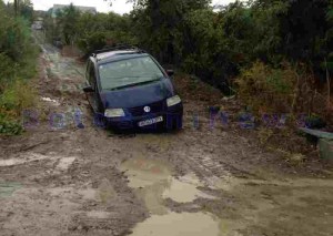
<path id="1" fill-rule="evenodd" d="M 253 112 L 291 112 L 295 96 L 297 73 L 291 65 L 273 69 L 262 62 L 243 70 L 236 79 L 240 99 Z"/>

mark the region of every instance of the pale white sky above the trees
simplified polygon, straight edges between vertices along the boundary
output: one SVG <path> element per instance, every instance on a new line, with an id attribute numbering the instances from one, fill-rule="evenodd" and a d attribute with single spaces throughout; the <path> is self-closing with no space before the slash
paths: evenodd
<path id="1" fill-rule="evenodd" d="M 12 1 L 12 0 L 6 0 Z M 114 11 L 117 13 L 123 14 L 129 13 L 132 10 L 132 4 L 127 3 L 127 0 L 113 0 L 110 7 L 108 1 L 104 0 L 31 0 L 34 10 L 49 10 L 54 3 L 58 4 L 69 4 L 72 2 L 77 6 L 95 7 L 99 12 Z M 213 4 L 228 4 L 235 0 L 213 0 Z"/>

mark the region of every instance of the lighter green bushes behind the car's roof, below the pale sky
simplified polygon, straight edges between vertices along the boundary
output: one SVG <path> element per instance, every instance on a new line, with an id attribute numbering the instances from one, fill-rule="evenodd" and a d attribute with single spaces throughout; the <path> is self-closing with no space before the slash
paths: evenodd
<path id="1" fill-rule="evenodd" d="M 56 22 L 49 12 L 46 29 L 49 40 L 60 38 L 64 44 L 75 43 L 84 53 L 108 44 L 135 44 L 135 39 L 130 32 L 129 17 L 113 12 L 82 13 L 73 4 L 58 11 Z"/>

